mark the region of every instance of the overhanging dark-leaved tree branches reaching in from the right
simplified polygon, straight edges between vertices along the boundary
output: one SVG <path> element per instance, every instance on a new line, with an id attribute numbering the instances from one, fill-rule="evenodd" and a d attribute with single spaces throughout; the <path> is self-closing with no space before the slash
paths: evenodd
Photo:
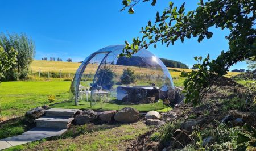
<path id="1" fill-rule="evenodd" d="M 123 0 L 125 5 L 122 10 L 129 8 L 133 14 L 133 6 L 140 0 Z M 143 2 L 150 1 L 144 0 Z M 154 6 L 156 0 L 151 1 Z M 213 32 L 210 27 L 225 28 L 230 31 L 226 39 L 229 41 L 229 49 L 222 51 L 214 60 L 195 57 L 197 64 L 188 78 L 184 81 L 186 93 L 185 102 L 199 104 L 214 81 L 228 72 L 230 66 L 239 61 L 256 60 L 256 3 L 255 0 L 209 0 L 200 1 L 196 10 L 185 11 L 185 3 L 181 7 L 174 7 L 170 2 L 168 8 L 160 14 L 156 13 L 154 23 L 148 21 L 146 27 L 142 27 L 142 38 L 134 38 L 133 43 L 125 41 L 126 47 L 120 56 L 130 57 L 141 48 L 157 43 L 166 44 L 167 47 L 175 44 L 175 41 L 191 37 L 197 37 L 200 43 L 203 39 L 210 39 Z M 128 51 L 131 49 L 132 51 Z"/>

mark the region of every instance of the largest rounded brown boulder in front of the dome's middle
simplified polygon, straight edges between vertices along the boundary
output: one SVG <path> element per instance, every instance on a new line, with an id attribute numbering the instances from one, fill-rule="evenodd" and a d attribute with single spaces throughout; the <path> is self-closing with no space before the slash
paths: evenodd
<path id="1" fill-rule="evenodd" d="M 132 123 L 139 120 L 139 111 L 125 107 L 115 114 L 114 119 L 122 123 Z"/>

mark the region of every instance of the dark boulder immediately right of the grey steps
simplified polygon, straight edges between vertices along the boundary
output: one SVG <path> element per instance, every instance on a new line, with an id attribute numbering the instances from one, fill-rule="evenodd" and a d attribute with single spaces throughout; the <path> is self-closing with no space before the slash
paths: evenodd
<path id="1" fill-rule="evenodd" d="M 97 113 L 91 109 L 84 110 L 80 112 L 80 114 L 75 116 L 74 123 L 78 125 L 86 124 L 86 123 L 89 123 L 90 121 L 97 119 L 97 116 L 98 116 Z"/>

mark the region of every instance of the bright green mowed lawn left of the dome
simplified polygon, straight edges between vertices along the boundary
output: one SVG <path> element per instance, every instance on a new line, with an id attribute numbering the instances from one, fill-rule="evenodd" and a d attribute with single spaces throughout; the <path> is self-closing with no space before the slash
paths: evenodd
<path id="1" fill-rule="evenodd" d="M 1 82 L 0 103 L 2 116 L 22 116 L 31 108 L 50 104 L 49 95 L 55 102 L 68 99 L 70 81 L 16 81 Z"/>

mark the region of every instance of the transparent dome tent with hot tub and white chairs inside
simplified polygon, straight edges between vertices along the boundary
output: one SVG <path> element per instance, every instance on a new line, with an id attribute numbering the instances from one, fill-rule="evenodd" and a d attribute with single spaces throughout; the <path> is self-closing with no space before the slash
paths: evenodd
<path id="1" fill-rule="evenodd" d="M 146 49 L 118 57 L 124 47 L 108 46 L 85 58 L 71 82 L 69 102 L 96 110 L 168 108 L 175 88 L 166 66 Z"/>

